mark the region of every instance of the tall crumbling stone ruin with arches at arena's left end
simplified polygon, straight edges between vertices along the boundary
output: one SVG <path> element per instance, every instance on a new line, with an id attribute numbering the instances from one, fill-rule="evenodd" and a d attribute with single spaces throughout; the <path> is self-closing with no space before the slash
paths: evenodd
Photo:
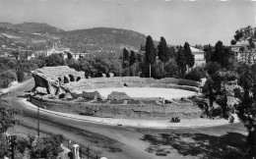
<path id="1" fill-rule="evenodd" d="M 44 67 L 32 71 L 32 77 L 35 82 L 33 93 L 62 98 L 69 92 L 64 85 L 85 79 L 85 73 L 77 72 L 68 66 Z"/>

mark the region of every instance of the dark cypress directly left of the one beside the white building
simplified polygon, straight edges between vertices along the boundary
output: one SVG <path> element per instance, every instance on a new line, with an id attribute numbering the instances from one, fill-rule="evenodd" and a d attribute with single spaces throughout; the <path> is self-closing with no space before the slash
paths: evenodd
<path id="1" fill-rule="evenodd" d="M 179 47 L 177 52 L 176 63 L 179 67 L 179 76 L 184 77 L 186 73 L 186 59 L 185 59 L 183 48 L 181 46 Z"/>

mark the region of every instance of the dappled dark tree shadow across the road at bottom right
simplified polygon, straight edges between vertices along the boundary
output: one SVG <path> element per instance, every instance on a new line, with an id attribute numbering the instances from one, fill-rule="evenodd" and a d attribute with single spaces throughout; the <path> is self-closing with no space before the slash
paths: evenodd
<path id="1" fill-rule="evenodd" d="M 204 133 L 145 134 L 141 139 L 151 143 L 146 151 L 162 156 L 177 152 L 182 156 L 202 159 L 240 159 L 244 158 L 242 154 L 246 147 L 246 136 L 237 132 L 221 136 Z"/>

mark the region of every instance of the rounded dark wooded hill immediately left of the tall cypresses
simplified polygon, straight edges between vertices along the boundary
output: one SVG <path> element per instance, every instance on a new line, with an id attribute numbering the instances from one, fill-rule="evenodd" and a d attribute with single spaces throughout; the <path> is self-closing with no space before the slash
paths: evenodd
<path id="1" fill-rule="evenodd" d="M 146 43 L 146 35 L 128 29 L 95 27 L 61 32 L 67 44 L 81 50 L 139 50 Z"/>

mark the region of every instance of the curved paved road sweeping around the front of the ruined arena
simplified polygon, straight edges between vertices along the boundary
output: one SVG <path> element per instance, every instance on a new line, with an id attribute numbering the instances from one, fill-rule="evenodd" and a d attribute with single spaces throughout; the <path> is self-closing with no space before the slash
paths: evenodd
<path id="1" fill-rule="evenodd" d="M 13 107 L 21 108 L 24 114 L 20 116 L 24 122 L 23 126 L 18 126 L 24 132 L 36 134 L 37 128 L 37 112 L 28 109 L 21 99 L 27 97 L 33 87 L 33 79 L 29 79 L 21 86 L 12 89 L 15 92 L 13 96 L 4 98 L 5 102 Z M 153 129 L 135 129 L 115 126 L 105 126 L 81 122 L 77 120 L 66 119 L 47 113 L 40 113 L 40 134 L 61 133 L 65 138 L 71 139 L 73 142 L 79 143 L 83 147 L 90 146 L 100 156 L 112 159 L 157 159 L 157 158 L 183 158 L 177 152 L 171 152 L 167 157 L 156 156 L 148 153 L 145 149 L 150 143 L 143 141 L 144 134 L 158 134 L 160 132 L 175 133 L 205 133 L 211 135 L 223 135 L 226 132 L 238 132 L 247 134 L 241 124 L 234 124 L 212 127 L 212 128 L 194 128 L 194 129 L 177 129 L 177 130 L 153 130 Z"/>

